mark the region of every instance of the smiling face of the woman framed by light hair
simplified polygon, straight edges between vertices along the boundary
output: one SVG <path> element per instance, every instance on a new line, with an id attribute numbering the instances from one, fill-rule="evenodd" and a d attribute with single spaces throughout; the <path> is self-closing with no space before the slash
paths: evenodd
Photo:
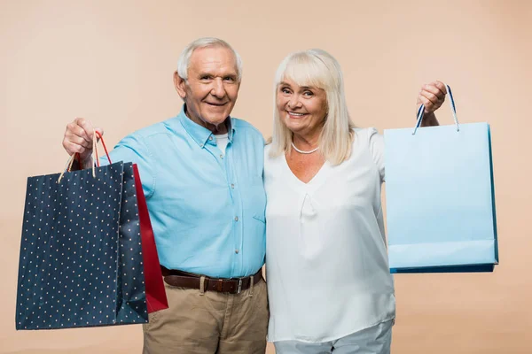
<path id="1" fill-rule="evenodd" d="M 317 134 L 324 126 L 327 114 L 325 90 L 299 86 L 285 79 L 278 85 L 277 109 L 281 120 L 294 134 Z"/>

